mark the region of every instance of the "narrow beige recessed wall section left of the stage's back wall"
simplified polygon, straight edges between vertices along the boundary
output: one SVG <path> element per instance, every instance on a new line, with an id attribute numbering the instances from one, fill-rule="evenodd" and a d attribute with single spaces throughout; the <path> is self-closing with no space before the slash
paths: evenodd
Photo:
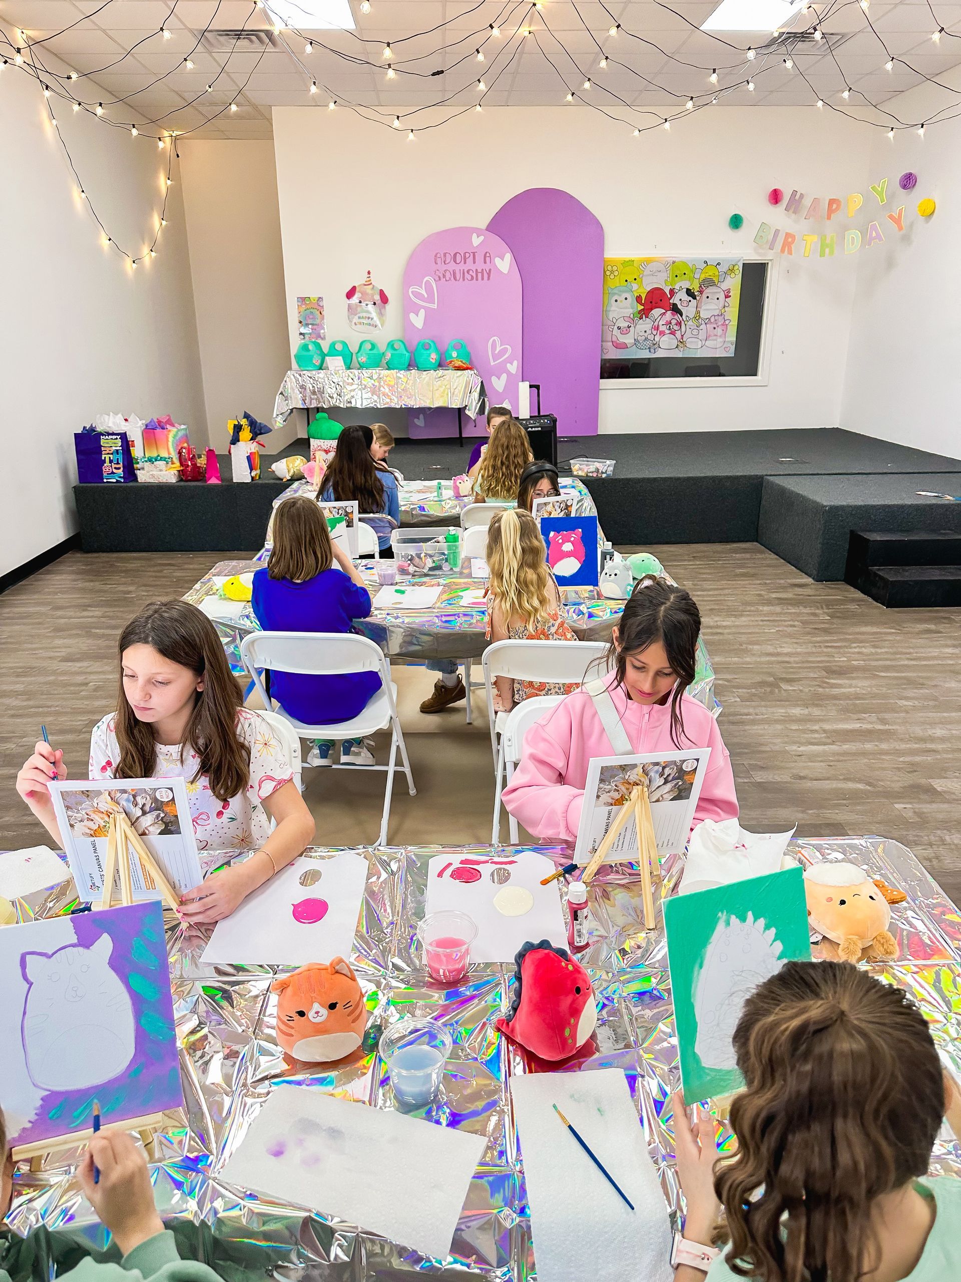
<path id="1" fill-rule="evenodd" d="M 272 142 L 186 138 L 181 144 L 197 340 L 211 444 L 243 410 L 270 422 L 290 369 L 281 217 Z M 296 420 L 265 441 L 297 435 Z"/>

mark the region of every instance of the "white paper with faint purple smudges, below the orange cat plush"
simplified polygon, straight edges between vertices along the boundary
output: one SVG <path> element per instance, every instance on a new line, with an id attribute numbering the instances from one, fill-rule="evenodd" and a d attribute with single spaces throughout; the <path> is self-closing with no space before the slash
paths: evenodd
<path id="1" fill-rule="evenodd" d="M 484 1136 L 278 1086 L 220 1178 L 445 1259 Z"/>

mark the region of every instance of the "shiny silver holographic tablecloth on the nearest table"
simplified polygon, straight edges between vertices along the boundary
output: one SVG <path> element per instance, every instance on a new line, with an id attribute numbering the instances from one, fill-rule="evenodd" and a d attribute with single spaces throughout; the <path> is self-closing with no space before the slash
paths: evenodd
<path id="1" fill-rule="evenodd" d="M 473 847 L 473 853 L 484 854 L 487 849 Z M 185 936 L 170 920 L 168 947 L 186 1126 L 183 1119 L 174 1120 L 156 1140 L 160 1160 L 154 1165 L 154 1186 L 165 1217 L 205 1219 L 224 1249 L 236 1246 L 247 1256 L 255 1256 L 258 1249 L 273 1249 L 283 1258 L 273 1277 L 296 1282 L 400 1282 L 414 1273 L 447 1282 L 529 1282 L 534 1255 L 510 1101 L 511 1079 L 525 1067 L 493 1028 L 509 997 L 511 968 L 475 965 L 466 982 L 445 990 L 428 978 L 414 947 L 415 926 L 424 910 L 427 864 L 445 850 L 468 853 L 466 847 L 442 846 L 370 853 L 351 959 L 366 994 L 370 1024 L 365 1045 L 370 1049 L 351 1068 L 291 1078 L 274 1037 L 272 969 L 205 968 L 200 962 L 202 940 Z M 901 959 L 871 969 L 912 994 L 935 1041 L 961 1076 L 957 909 L 898 842 L 846 837 L 798 841 L 791 850 L 803 862 L 850 860 L 907 892 L 907 903 L 892 913 Z M 331 853 L 314 855 L 324 859 Z M 664 895 L 674 888 L 679 870 L 678 860 L 665 863 Z M 645 935 L 639 883 L 623 879 L 623 872 L 619 877 L 616 882 L 595 882 L 589 890 L 592 945 L 580 960 L 595 985 L 597 1045 L 592 1058 L 569 1070 L 619 1067 L 625 1072 L 665 1199 L 677 1213 L 680 1197 L 669 1099 L 679 1085 L 679 1073 L 660 896 L 657 927 Z M 41 905 L 38 915 L 67 908 L 62 891 L 60 897 L 54 894 Z M 282 1078 L 369 1106 L 393 1108 L 387 1074 L 373 1046 L 379 1031 L 402 1015 L 438 1018 L 454 1037 L 445 1097 L 427 1117 L 438 1126 L 460 1127 L 487 1138 L 446 1260 L 423 1259 L 356 1226 L 277 1205 L 229 1187 L 218 1176 Z M 723 1129 L 721 1145 L 729 1142 L 729 1132 Z M 18 1172 L 9 1215 L 14 1232 L 45 1224 L 82 1232 L 91 1244 L 103 1245 L 104 1231 L 73 1177 L 76 1160 L 76 1151 L 65 1153 L 49 1158 L 38 1173 L 26 1168 Z M 951 1137 L 940 1138 L 933 1168 L 961 1174 L 961 1145 Z M 377 1178 L 374 1170 L 370 1174 Z M 597 1276 L 604 1276 L 602 1259 Z"/>

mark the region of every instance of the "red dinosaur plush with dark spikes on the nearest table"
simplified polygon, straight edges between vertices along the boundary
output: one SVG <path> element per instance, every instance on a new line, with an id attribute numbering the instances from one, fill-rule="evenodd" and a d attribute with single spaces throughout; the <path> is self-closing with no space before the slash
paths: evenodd
<path id="1" fill-rule="evenodd" d="M 547 940 L 525 944 L 514 960 L 514 1000 L 496 1027 L 538 1059 L 570 1059 L 597 1023 L 587 970 Z"/>

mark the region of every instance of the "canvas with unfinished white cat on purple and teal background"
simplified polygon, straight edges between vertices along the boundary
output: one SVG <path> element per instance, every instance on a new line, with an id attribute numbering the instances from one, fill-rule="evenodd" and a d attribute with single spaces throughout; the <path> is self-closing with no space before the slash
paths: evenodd
<path id="1" fill-rule="evenodd" d="M 0 931 L 9 1142 L 49 1141 L 183 1103 L 156 900 Z"/>

